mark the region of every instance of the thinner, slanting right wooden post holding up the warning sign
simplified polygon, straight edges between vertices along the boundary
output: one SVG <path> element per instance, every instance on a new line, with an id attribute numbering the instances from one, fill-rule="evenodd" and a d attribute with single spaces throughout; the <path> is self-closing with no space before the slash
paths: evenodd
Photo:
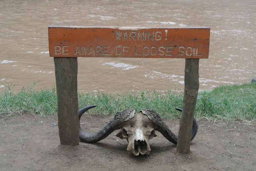
<path id="1" fill-rule="evenodd" d="M 199 89 L 198 70 L 199 59 L 186 59 L 184 79 L 185 90 L 177 143 L 177 151 L 182 154 L 190 152 L 193 117 Z"/>

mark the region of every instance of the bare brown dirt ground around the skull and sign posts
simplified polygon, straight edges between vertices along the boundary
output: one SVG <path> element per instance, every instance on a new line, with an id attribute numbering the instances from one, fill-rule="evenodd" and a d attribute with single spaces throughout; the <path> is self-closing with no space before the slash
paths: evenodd
<path id="1" fill-rule="evenodd" d="M 96 132 L 112 117 L 84 115 L 84 130 Z M 165 120 L 178 133 L 178 120 Z M 149 155 L 134 156 L 126 151 L 127 141 L 113 132 L 98 143 L 80 142 L 78 146 L 60 145 L 56 116 L 31 114 L 0 115 L 1 171 L 205 171 L 256 170 L 255 125 L 198 121 L 198 134 L 191 152 L 182 155 L 176 145 L 159 132 L 150 139 Z"/>

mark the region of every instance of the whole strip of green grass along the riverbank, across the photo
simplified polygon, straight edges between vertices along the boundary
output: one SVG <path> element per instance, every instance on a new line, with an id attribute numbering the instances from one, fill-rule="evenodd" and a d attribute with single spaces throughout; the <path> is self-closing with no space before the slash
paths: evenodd
<path id="1" fill-rule="evenodd" d="M 6 84 L 0 96 L 0 115 L 14 113 L 34 113 L 52 115 L 57 113 L 56 88 L 35 90 L 35 83 L 13 93 L 14 85 Z M 154 109 L 166 119 L 179 118 L 181 113 L 175 107 L 182 108 L 183 94 L 176 89 L 166 91 L 130 91 L 125 94 L 78 93 L 79 109 L 87 105 L 97 105 L 88 113 L 112 115 L 125 108 Z M 222 85 L 212 91 L 198 94 L 195 116 L 211 121 L 256 121 L 256 84 Z"/>

